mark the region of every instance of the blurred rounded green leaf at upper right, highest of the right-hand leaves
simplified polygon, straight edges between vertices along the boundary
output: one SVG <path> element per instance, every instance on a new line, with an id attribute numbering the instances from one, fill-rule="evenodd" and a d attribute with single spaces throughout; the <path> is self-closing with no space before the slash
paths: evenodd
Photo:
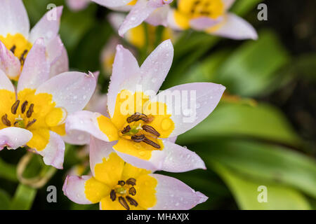
<path id="1" fill-rule="evenodd" d="M 215 81 L 233 94 L 264 95 L 279 87 L 277 71 L 288 63 L 289 54 L 277 36 L 262 31 L 258 41 L 247 41 L 231 53 L 218 69 Z"/>

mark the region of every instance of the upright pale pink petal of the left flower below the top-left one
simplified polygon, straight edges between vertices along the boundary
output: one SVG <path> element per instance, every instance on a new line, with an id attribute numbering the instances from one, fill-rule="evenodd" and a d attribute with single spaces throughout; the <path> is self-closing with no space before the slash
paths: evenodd
<path id="1" fill-rule="evenodd" d="M 49 79 L 49 61 L 46 58 L 44 38 L 35 41 L 25 59 L 21 76 L 18 81 L 18 92 L 25 88 L 36 90 L 39 85 Z"/>

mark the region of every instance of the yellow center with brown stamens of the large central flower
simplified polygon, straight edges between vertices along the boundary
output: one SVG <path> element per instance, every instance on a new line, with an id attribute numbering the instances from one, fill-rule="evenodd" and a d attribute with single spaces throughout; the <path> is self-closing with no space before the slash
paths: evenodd
<path id="1" fill-rule="evenodd" d="M 119 140 L 113 146 L 115 150 L 143 160 L 149 160 L 152 151 L 163 150 L 160 138 L 168 138 L 174 130 L 166 104 L 148 99 L 143 92 L 132 94 L 122 90 L 117 95 L 114 116 L 110 119 L 98 117 L 100 130 L 109 140 Z"/>

